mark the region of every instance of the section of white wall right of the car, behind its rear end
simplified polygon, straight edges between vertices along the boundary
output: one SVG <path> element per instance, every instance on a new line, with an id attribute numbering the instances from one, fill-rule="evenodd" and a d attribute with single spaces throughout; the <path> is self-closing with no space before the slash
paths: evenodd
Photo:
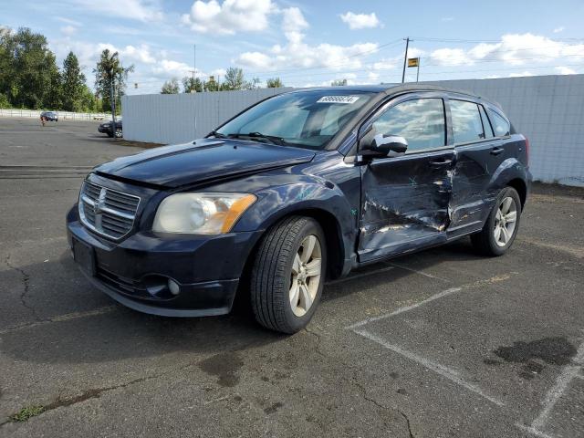
<path id="1" fill-rule="evenodd" d="M 529 139 L 529 166 L 537 181 L 584 186 L 584 75 L 433 83 L 499 103 Z"/>

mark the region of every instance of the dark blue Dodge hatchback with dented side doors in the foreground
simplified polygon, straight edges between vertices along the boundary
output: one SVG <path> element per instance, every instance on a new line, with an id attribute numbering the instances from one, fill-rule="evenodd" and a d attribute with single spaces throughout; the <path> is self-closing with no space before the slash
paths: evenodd
<path id="1" fill-rule="evenodd" d="M 93 285 L 156 315 L 308 324 L 325 278 L 470 235 L 513 244 L 527 139 L 494 103 L 430 86 L 306 89 L 206 138 L 101 164 L 67 216 Z"/>

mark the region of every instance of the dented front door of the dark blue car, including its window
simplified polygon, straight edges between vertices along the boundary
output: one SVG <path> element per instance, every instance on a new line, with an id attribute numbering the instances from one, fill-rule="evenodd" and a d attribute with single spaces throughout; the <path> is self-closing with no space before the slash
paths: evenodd
<path id="1" fill-rule="evenodd" d="M 407 150 L 371 155 L 367 143 L 379 134 L 402 137 Z M 449 137 L 439 93 L 393 99 L 363 124 L 360 262 L 446 240 L 454 168 Z"/>

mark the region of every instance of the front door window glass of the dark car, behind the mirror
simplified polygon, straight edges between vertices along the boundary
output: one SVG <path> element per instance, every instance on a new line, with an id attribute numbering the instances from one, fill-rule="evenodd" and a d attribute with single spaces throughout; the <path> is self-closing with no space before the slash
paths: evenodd
<path id="1" fill-rule="evenodd" d="M 442 99 L 414 99 L 398 103 L 373 122 L 377 133 L 399 135 L 408 151 L 440 148 L 446 144 Z"/>

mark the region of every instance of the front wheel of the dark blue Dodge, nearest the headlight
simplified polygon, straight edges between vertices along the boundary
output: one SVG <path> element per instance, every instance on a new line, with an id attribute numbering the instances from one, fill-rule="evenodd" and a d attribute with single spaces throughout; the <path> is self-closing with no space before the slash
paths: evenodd
<path id="1" fill-rule="evenodd" d="M 327 266 L 324 233 L 314 219 L 289 217 L 263 236 L 250 295 L 264 327 L 295 333 L 306 327 L 322 295 Z"/>

